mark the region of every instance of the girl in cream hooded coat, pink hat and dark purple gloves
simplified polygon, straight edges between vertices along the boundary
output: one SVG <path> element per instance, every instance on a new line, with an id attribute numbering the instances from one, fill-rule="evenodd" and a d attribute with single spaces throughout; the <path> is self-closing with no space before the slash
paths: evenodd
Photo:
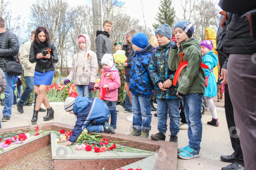
<path id="1" fill-rule="evenodd" d="M 90 50 L 91 41 L 87 34 L 80 34 L 76 37 L 78 53 L 73 56 L 72 67 L 64 84 L 74 79 L 78 96 L 91 98 L 91 91 L 94 88 L 98 72 L 96 54 Z"/>

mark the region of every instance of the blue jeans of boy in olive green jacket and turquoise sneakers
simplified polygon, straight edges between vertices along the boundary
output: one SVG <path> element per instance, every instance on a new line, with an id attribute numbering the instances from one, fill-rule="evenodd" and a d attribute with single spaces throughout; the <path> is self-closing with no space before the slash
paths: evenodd
<path id="1" fill-rule="evenodd" d="M 194 150 L 200 150 L 200 143 L 202 140 L 202 93 L 189 93 L 182 97 L 184 101 L 184 111 L 188 125 L 187 135 L 189 139 L 189 146 Z"/>

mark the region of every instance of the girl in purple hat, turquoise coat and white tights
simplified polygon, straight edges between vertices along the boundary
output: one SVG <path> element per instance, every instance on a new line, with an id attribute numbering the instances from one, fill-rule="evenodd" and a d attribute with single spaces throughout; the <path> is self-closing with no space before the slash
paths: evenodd
<path id="1" fill-rule="evenodd" d="M 200 43 L 200 46 L 201 53 L 203 55 L 203 63 L 209 67 L 209 69 L 204 69 L 205 79 L 207 80 L 208 77 L 208 84 L 207 87 L 205 88 L 204 98 L 207 105 L 209 105 L 209 109 L 212 116 L 212 120 L 210 122 L 207 122 L 207 124 L 219 126 L 216 107 L 212 100 L 212 98 L 217 95 L 217 84 L 215 75 L 213 74 L 213 68 L 218 65 L 218 57 L 216 54 L 213 53 L 213 51 L 211 51 L 211 49 L 213 48 L 211 40 L 202 41 Z"/>

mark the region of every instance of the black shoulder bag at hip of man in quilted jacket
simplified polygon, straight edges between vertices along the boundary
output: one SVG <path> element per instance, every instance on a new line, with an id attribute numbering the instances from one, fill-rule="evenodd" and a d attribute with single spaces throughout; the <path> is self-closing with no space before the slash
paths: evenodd
<path id="1" fill-rule="evenodd" d="M 19 63 L 20 60 L 17 58 Z M 5 59 L 3 59 L 3 63 L 5 64 L 5 71 L 7 74 L 14 75 L 14 76 L 20 76 L 22 74 L 22 65 L 19 63 L 16 63 L 14 61 L 8 61 L 6 62 Z"/>

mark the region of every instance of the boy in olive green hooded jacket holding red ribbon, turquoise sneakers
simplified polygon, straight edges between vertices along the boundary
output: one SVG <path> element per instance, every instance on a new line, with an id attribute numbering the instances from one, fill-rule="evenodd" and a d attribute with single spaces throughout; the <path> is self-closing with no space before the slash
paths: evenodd
<path id="1" fill-rule="evenodd" d="M 200 42 L 191 38 L 194 27 L 189 21 L 180 21 L 174 26 L 177 43 L 170 48 L 168 67 L 180 73 L 177 94 L 184 104 L 189 144 L 178 149 L 178 156 L 182 159 L 191 159 L 200 156 L 200 142 L 202 140 L 202 101 L 205 90 L 204 68 Z M 185 67 L 184 67 L 185 66 Z M 182 69 L 183 68 L 183 69 Z M 176 77 L 174 83 L 176 84 Z"/>

